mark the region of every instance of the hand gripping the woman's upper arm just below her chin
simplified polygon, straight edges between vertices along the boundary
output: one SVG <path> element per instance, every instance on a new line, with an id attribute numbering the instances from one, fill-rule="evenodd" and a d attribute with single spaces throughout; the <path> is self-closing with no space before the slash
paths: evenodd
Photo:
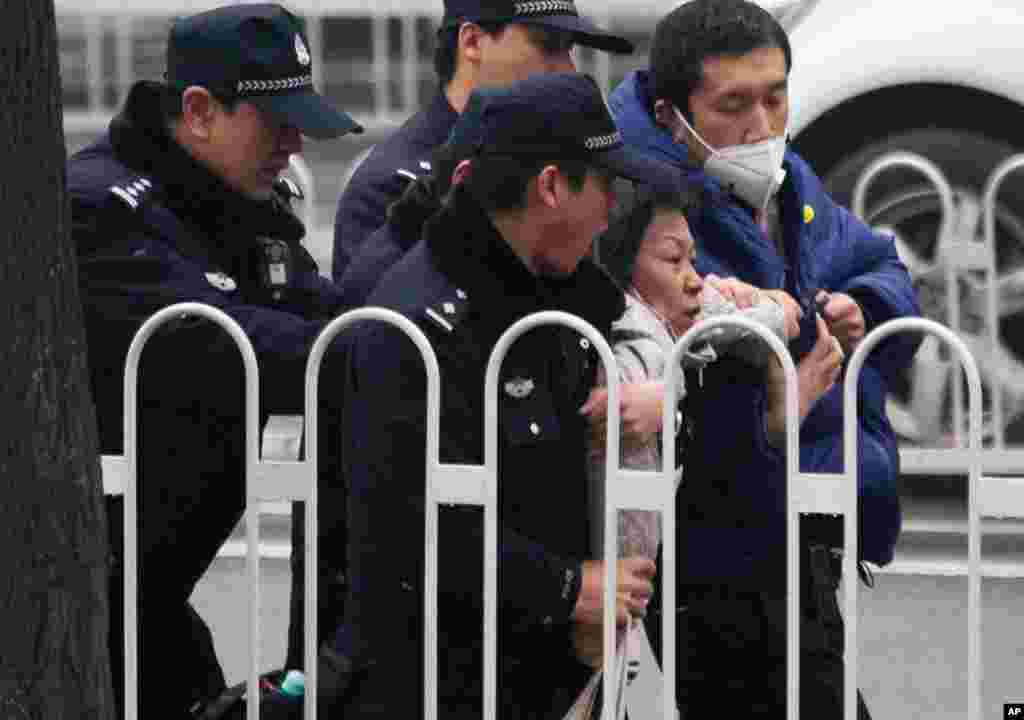
<path id="1" fill-rule="evenodd" d="M 622 446 L 646 444 L 662 429 L 662 399 L 665 383 L 660 380 L 624 383 L 620 393 Z M 591 425 L 591 455 L 603 457 L 608 427 L 608 388 L 595 387 L 580 409 Z"/>

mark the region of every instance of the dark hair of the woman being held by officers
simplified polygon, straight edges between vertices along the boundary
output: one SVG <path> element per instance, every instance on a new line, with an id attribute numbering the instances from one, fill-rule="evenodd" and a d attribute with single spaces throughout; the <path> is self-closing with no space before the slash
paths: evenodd
<path id="1" fill-rule="evenodd" d="M 683 185 L 678 193 L 658 193 L 641 185 L 632 204 L 595 241 L 595 257 L 622 290 L 633 284 L 633 268 L 647 227 L 659 210 L 682 213 L 687 220 L 702 207 L 702 190 L 696 184 Z"/>

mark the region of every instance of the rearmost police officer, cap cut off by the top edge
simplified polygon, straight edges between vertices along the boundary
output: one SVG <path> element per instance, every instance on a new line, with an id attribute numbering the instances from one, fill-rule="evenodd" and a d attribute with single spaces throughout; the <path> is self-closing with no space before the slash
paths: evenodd
<path id="1" fill-rule="evenodd" d="M 410 176 L 430 171 L 470 92 L 536 73 L 571 72 L 573 45 L 628 53 L 633 44 L 578 14 L 573 0 L 444 0 L 434 69 L 441 88 L 429 105 L 378 144 L 338 202 L 333 277 L 340 282 L 356 250 L 384 224 Z"/>

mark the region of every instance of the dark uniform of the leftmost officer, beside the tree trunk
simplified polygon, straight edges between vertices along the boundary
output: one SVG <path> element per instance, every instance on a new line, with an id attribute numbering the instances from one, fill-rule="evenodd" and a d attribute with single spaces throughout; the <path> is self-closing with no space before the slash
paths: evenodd
<path id="1" fill-rule="evenodd" d="M 110 132 L 68 164 L 104 453 L 121 452 L 125 355 L 135 331 L 155 311 L 199 301 L 236 320 L 256 350 L 265 417 L 303 412 L 309 348 L 324 322 L 343 309 L 337 289 L 318 276 L 300 244 L 304 228 L 281 186 L 265 202 L 232 192 L 171 138 L 160 108 L 159 87 L 136 84 Z M 268 261 L 283 259 L 282 253 L 290 261 L 284 284 L 276 285 Z M 326 372 L 330 365 L 329 357 L 322 375 L 325 397 L 337 396 Z M 143 717 L 158 712 L 184 717 L 224 685 L 209 631 L 187 601 L 244 508 L 243 383 L 233 341 L 197 319 L 165 326 L 142 353 L 138 597 Z M 325 428 L 337 429 L 335 411 L 326 408 L 322 414 Z M 322 465 L 325 476 L 333 476 L 330 458 Z M 328 505 L 343 501 L 323 499 Z M 110 638 L 118 693 L 123 677 L 121 508 L 120 500 L 108 500 L 117 563 Z M 331 532 L 326 527 L 327 537 Z"/>

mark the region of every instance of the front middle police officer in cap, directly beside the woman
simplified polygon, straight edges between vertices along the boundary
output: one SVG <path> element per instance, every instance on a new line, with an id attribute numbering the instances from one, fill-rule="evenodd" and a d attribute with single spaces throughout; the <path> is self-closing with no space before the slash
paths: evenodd
<path id="1" fill-rule="evenodd" d="M 575 313 L 607 332 L 623 294 L 590 260 L 614 176 L 675 186 L 674 172 L 624 152 L 595 83 L 535 76 L 493 90 L 478 151 L 424 238 L 370 304 L 429 337 L 440 365 L 440 459 L 483 460 L 490 351 L 517 320 Z M 398 331 L 368 324 L 352 344 L 344 454 L 350 477 L 350 594 L 336 652 L 352 668 L 344 717 L 422 714 L 425 380 Z M 564 328 L 517 341 L 500 381 L 499 668 L 504 718 L 561 718 L 600 659 L 601 564 L 588 557 L 586 418 L 590 343 Z M 417 451 L 416 449 L 421 449 Z M 440 513 L 439 704 L 479 717 L 482 532 L 473 510 Z M 618 561 L 617 613 L 642 615 L 653 563 Z"/>

